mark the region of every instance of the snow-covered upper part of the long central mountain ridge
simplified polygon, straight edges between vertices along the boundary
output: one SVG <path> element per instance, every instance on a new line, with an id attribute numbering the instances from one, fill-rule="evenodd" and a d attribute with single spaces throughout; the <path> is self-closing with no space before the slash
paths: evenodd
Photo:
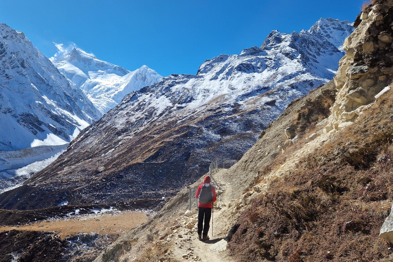
<path id="1" fill-rule="evenodd" d="M 141 128 L 162 118 L 164 112 L 174 116 L 201 111 L 212 101 L 217 103 L 217 98 L 228 107 L 237 103 L 244 108 L 264 106 L 274 100 L 266 108 L 274 112 L 268 120 L 273 121 L 294 98 L 333 79 L 343 56 L 338 49 L 342 43 L 336 36 L 348 36 L 353 31 L 349 26 L 348 21 L 328 18 L 320 19 L 309 31 L 272 31 L 260 48 L 206 60 L 197 75 L 171 75 L 130 94 L 122 103 L 132 102 L 127 111 L 133 112 L 136 121 L 152 112 Z M 328 31 L 330 34 L 320 33 Z M 328 37 L 332 35 L 331 42 Z"/>

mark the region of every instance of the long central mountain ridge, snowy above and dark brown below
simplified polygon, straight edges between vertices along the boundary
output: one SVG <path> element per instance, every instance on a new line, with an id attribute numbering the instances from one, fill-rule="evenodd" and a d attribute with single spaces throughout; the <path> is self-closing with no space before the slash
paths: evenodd
<path id="1" fill-rule="evenodd" d="M 333 79 L 342 43 L 320 32 L 348 35 L 348 23 L 318 23 L 319 30 L 272 31 L 260 48 L 126 95 L 47 169 L 3 193 L 0 207 L 163 197 L 206 173 L 212 159 L 241 158 L 292 100 Z M 25 201 L 32 191 L 46 201 Z"/>

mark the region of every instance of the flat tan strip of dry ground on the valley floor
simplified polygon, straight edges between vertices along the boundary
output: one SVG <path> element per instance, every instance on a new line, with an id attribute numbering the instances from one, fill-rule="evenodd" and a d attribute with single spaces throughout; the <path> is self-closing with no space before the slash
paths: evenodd
<path id="1" fill-rule="evenodd" d="M 56 232 L 61 238 L 79 233 L 97 232 L 104 235 L 121 235 L 147 221 L 143 212 L 117 211 L 100 215 L 73 216 L 70 219 L 47 220 L 28 225 L 0 227 L 0 232 L 13 229 Z"/>

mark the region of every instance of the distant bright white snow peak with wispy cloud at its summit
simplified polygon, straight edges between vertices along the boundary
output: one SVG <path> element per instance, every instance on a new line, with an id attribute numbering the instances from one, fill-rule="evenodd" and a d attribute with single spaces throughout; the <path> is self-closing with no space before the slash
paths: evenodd
<path id="1" fill-rule="evenodd" d="M 59 52 L 50 60 L 70 82 L 83 90 L 103 114 L 120 103 L 126 94 L 162 78 L 146 65 L 129 72 L 79 48 L 64 49 L 61 44 L 56 46 Z"/>

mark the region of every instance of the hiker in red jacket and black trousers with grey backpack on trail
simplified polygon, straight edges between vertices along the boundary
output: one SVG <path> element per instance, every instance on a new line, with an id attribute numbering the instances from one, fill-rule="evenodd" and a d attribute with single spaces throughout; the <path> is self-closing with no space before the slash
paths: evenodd
<path id="1" fill-rule="evenodd" d="M 203 184 L 199 185 L 195 197 L 198 199 L 198 236 L 199 240 L 205 241 L 209 239 L 207 232 L 209 232 L 210 228 L 209 224 L 213 202 L 217 200 L 215 188 L 210 185 L 209 176 L 206 176 Z M 205 226 L 203 225 L 204 222 Z"/>

